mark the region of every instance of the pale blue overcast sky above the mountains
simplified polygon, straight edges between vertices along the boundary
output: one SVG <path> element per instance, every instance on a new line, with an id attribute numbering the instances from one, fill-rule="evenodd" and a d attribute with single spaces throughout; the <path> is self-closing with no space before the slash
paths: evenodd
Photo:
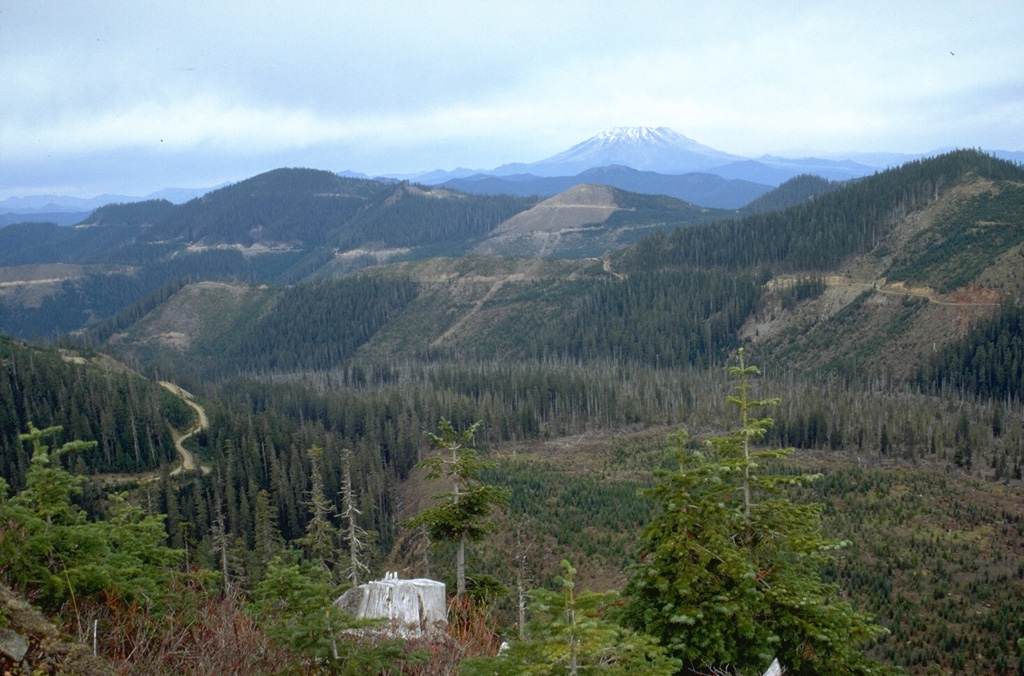
<path id="1" fill-rule="evenodd" d="M 0 199 L 532 162 L 1024 150 L 1024 2 L 0 0 Z"/>

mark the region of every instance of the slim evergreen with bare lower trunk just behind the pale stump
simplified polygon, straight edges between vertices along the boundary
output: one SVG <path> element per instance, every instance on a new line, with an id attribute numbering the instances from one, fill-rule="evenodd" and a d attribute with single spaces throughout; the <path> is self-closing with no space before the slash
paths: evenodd
<path id="1" fill-rule="evenodd" d="M 508 502 L 509 492 L 496 485 L 479 483 L 480 472 L 492 466 L 479 459 L 470 443 L 479 422 L 461 434 L 446 419 L 438 423 L 440 434 L 428 433 L 431 445 L 441 453 L 427 458 L 418 466 L 427 469 L 429 478 L 444 476 L 452 481 L 452 492 L 434 496 L 437 503 L 411 519 L 406 527 L 425 525 L 431 540 L 454 541 L 458 547 L 456 561 L 456 594 L 466 593 L 466 543 L 482 539 L 497 527 L 488 520 L 495 507 Z"/>

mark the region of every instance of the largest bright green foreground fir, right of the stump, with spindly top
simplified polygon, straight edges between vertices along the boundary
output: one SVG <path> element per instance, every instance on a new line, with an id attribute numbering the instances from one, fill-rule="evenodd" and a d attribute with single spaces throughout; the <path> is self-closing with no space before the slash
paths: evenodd
<path id="1" fill-rule="evenodd" d="M 641 536 L 626 593 L 627 622 L 656 637 L 690 672 L 708 667 L 760 673 L 777 657 L 792 674 L 874 673 L 858 646 L 884 630 L 821 579 L 828 552 L 820 506 L 790 501 L 786 489 L 814 475 L 773 475 L 764 463 L 788 451 L 755 450 L 771 425 L 752 418 L 772 399 L 749 398 L 757 369 L 739 378 L 741 426 L 702 450 L 675 436 L 679 468 L 649 491 L 660 505 Z"/>

